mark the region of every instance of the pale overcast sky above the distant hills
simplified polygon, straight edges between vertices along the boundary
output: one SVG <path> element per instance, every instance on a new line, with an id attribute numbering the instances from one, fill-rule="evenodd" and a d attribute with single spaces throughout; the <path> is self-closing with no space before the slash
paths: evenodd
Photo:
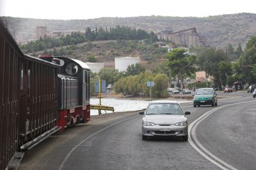
<path id="1" fill-rule="evenodd" d="M 0 0 L 0 16 L 33 19 L 100 17 L 208 17 L 256 13 L 256 0 Z"/>

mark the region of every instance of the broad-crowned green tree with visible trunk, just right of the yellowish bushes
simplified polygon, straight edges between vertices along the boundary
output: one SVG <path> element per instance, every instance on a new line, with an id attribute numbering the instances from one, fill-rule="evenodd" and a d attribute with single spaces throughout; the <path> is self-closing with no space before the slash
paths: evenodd
<path id="1" fill-rule="evenodd" d="M 170 73 L 173 77 L 178 77 L 181 89 L 184 87 L 184 76 L 195 72 L 195 56 L 188 56 L 185 52 L 184 49 L 173 49 L 167 55 Z"/>

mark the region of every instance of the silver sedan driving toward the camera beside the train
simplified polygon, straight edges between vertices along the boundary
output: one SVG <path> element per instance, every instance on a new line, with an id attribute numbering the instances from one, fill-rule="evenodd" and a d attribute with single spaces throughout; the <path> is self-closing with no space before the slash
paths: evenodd
<path id="1" fill-rule="evenodd" d="M 150 136 L 175 136 L 188 141 L 188 120 L 178 102 L 157 100 L 150 102 L 145 112 L 141 111 L 142 139 Z"/>

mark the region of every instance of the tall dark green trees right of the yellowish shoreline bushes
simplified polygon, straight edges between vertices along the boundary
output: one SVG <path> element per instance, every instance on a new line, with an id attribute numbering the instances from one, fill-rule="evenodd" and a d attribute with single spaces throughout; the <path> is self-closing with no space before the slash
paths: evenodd
<path id="1" fill-rule="evenodd" d="M 205 71 L 213 77 L 212 87 L 222 89 L 232 87 L 234 82 L 256 83 L 256 36 L 251 36 L 243 51 L 241 43 L 236 50 L 228 45 L 226 50 L 214 47 L 201 47 L 195 50 L 196 56 L 187 56 L 182 49 L 168 53 L 168 66 L 172 76 L 184 86 L 186 77 L 195 79 L 195 71 Z"/>

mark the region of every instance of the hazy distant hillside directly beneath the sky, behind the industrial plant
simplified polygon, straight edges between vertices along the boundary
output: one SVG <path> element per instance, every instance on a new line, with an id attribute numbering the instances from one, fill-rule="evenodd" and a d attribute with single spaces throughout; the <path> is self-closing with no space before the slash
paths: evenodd
<path id="1" fill-rule="evenodd" d="M 47 32 L 85 31 L 86 27 L 115 27 L 131 26 L 147 31 L 162 31 L 172 26 L 174 31 L 196 27 L 200 36 L 204 36 L 207 45 L 225 49 L 228 43 L 243 47 L 251 35 L 256 35 L 256 14 L 237 13 L 232 15 L 218 15 L 210 17 L 127 17 L 127 18 L 100 18 L 88 20 L 44 20 L 3 17 L 8 29 L 17 42 L 28 42 L 36 38 L 36 26 L 46 26 Z"/>

